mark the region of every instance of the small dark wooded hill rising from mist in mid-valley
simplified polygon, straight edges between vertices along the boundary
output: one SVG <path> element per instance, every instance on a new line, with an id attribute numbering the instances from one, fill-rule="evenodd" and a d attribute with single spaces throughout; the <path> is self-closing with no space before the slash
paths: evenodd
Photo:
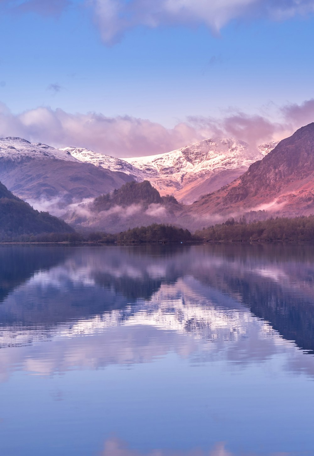
<path id="1" fill-rule="evenodd" d="M 158 190 L 152 187 L 149 181 L 127 182 L 125 185 L 112 193 L 99 196 L 94 199 L 92 208 L 99 212 L 110 209 L 113 206 L 131 206 L 131 204 L 164 204 L 172 202 L 178 204 L 174 197 L 161 197 Z"/>

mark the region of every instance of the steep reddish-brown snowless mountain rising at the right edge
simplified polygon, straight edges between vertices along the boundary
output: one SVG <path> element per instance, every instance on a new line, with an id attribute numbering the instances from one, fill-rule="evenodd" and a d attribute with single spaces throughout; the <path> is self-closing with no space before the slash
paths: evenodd
<path id="1" fill-rule="evenodd" d="M 279 142 L 238 179 L 187 207 L 223 217 L 264 209 L 267 215 L 314 213 L 314 123 Z"/>

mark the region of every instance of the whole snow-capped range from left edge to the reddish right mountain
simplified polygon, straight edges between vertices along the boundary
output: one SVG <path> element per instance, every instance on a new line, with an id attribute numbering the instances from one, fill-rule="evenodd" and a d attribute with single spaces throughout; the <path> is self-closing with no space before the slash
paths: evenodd
<path id="1" fill-rule="evenodd" d="M 61 213 L 37 202 L 60 196 L 64 204 L 79 202 L 131 180 L 148 180 L 161 195 L 174 195 L 188 204 L 234 181 L 275 145 L 252 148 L 232 138 L 207 139 L 166 154 L 120 159 L 84 148 L 56 149 L 21 138 L 0 138 L 0 181 L 34 207 L 55 215 Z"/>

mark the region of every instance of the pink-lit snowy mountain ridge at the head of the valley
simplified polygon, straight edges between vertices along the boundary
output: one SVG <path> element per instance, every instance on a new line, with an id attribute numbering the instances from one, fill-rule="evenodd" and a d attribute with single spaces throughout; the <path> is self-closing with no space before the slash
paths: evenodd
<path id="1" fill-rule="evenodd" d="M 134 176 L 138 182 L 150 181 L 161 195 L 172 194 L 189 204 L 239 177 L 275 145 L 277 142 L 252 148 L 233 138 L 207 139 L 166 154 L 125 159 L 82 148 L 62 150 L 77 160 Z"/>

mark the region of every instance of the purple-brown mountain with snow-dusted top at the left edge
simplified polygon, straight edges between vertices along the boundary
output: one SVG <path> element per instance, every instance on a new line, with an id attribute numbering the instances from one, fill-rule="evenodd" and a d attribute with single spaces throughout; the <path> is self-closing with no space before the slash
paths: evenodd
<path id="1" fill-rule="evenodd" d="M 83 163 L 70 153 L 21 138 L 0 138 L 0 181 L 19 197 L 64 204 L 94 198 L 133 177 Z"/>

